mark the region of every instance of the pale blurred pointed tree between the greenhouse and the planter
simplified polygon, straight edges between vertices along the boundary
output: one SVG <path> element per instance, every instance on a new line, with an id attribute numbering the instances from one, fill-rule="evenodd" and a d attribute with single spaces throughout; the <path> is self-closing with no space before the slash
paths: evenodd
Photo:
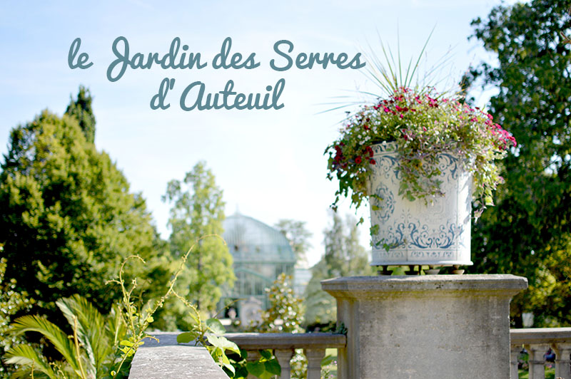
<path id="1" fill-rule="evenodd" d="M 323 231 L 325 254 L 311 268 L 311 279 L 305 288 L 305 323 L 330 324 L 336 319 L 335 298 L 321 289 L 320 281 L 338 276 L 372 275 L 368 252 L 359 244 L 359 230 L 354 217 L 345 220 L 330 211 L 330 227 Z"/>

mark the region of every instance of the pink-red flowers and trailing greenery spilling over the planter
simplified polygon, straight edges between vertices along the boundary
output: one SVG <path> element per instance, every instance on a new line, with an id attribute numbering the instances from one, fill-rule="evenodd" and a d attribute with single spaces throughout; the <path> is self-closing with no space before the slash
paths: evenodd
<path id="1" fill-rule="evenodd" d="M 484 110 L 460 100 L 455 95 L 438 95 L 430 87 L 413 90 L 400 86 L 386 98 L 349 115 L 340 137 L 325 150 L 328 179 L 339 180 L 333 209 L 341 195 L 350 194 L 357 208 L 363 199 L 375 196 L 368 189 L 368 173 L 376 163 L 371 145 L 380 142 L 396 144 L 403 178 L 399 195 L 405 199 L 430 202 L 432 197 L 444 195 L 438 180 L 438 155 L 447 152 L 473 175 L 476 217 L 492 205 L 492 191 L 502 182 L 494 161 L 516 146 L 515 138 Z"/>

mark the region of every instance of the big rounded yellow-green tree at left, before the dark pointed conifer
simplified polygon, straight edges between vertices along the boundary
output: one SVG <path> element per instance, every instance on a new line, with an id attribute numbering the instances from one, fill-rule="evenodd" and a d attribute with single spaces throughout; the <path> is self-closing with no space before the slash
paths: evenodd
<path id="1" fill-rule="evenodd" d="M 75 118 L 44 111 L 11 130 L 1 169 L 6 279 L 44 308 L 37 311 L 57 316 L 55 301 L 74 294 L 108 311 L 121 293 L 106 281 L 133 254 L 148 264 L 130 265 L 127 276 L 158 280 L 141 283 L 141 295 L 166 284 L 145 201 L 129 192 L 123 174 L 86 141 Z"/>

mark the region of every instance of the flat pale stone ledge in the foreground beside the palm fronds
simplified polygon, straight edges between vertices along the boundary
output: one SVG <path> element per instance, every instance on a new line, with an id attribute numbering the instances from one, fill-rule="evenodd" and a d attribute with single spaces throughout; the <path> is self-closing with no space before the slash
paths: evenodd
<path id="1" fill-rule="evenodd" d="M 206 348 L 176 343 L 180 332 L 152 333 L 131 363 L 130 379 L 228 379 Z"/>

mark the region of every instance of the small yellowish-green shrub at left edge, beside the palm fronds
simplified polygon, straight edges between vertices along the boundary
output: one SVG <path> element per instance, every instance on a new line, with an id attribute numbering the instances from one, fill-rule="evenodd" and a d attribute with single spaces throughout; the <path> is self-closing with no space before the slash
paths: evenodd
<path id="1" fill-rule="evenodd" d="M 0 251 L 4 247 L 0 244 Z M 11 369 L 4 364 L 2 357 L 11 346 L 21 342 L 21 338 L 9 333 L 10 318 L 16 313 L 27 311 L 31 301 L 26 293 L 16 292 L 16 281 L 4 281 L 6 259 L 0 259 L 0 378 L 9 378 Z"/>

